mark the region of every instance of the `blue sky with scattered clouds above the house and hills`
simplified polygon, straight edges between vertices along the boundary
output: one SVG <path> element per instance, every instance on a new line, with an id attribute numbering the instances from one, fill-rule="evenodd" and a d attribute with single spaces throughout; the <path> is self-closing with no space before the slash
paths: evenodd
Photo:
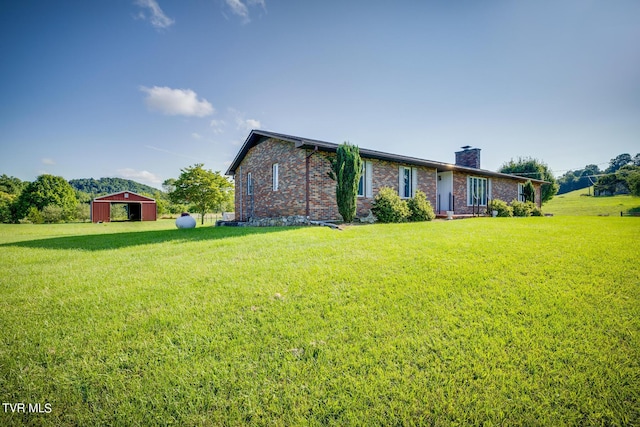
<path id="1" fill-rule="evenodd" d="M 639 18 L 636 0 L 2 2 L 0 174 L 160 188 L 224 172 L 261 128 L 560 175 L 640 151 Z"/>

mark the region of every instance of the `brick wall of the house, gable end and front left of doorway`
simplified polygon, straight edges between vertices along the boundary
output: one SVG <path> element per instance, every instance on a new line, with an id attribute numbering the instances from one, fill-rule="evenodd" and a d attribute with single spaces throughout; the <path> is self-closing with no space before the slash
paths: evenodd
<path id="1" fill-rule="evenodd" d="M 308 159 L 307 159 L 308 157 Z M 305 215 L 312 220 L 338 220 L 341 216 L 336 204 L 335 181 L 328 176 L 329 158 L 335 153 L 314 152 L 295 148 L 294 143 L 278 139 L 266 139 L 252 147 L 238 166 L 235 176 L 236 219 L 275 218 Z M 398 167 L 404 165 L 377 159 L 365 159 L 372 163 L 373 196 L 382 187 L 398 191 Z M 278 191 L 273 191 L 272 167 L 278 163 Z M 309 185 L 307 188 L 307 164 Z M 413 166 L 417 169 L 418 187 L 435 207 L 435 169 Z M 253 196 L 247 195 L 247 174 L 251 172 Z M 307 191 L 308 212 L 307 212 Z M 373 197 L 358 197 L 357 216 L 367 216 Z"/>

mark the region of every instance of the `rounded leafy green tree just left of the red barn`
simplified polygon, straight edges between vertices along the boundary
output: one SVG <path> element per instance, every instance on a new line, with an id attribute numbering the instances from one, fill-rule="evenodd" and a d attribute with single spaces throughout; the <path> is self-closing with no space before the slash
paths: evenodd
<path id="1" fill-rule="evenodd" d="M 42 211 L 45 206 L 62 208 L 63 220 L 73 217 L 78 204 L 73 187 L 61 176 L 40 175 L 29 183 L 16 201 L 17 218 L 24 218 L 30 208 Z"/>

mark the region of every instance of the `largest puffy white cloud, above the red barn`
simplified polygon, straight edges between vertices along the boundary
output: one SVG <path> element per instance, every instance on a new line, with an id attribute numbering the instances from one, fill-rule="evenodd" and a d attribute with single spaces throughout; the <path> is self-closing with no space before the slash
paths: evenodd
<path id="1" fill-rule="evenodd" d="M 198 100 L 198 95 L 191 89 L 141 86 L 140 90 L 147 93 L 145 101 L 150 110 L 160 111 L 169 116 L 204 117 L 215 112 L 209 101 Z"/>

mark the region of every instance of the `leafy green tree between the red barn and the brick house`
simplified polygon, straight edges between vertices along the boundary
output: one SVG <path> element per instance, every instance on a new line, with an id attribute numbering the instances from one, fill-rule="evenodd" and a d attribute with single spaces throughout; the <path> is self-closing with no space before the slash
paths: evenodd
<path id="1" fill-rule="evenodd" d="M 175 189 L 169 193 L 173 203 L 193 205 L 201 214 L 202 224 L 207 212 L 220 212 L 222 206 L 231 198 L 233 184 L 220 175 L 203 168 L 198 163 L 181 169 L 180 177 L 175 180 Z"/>

